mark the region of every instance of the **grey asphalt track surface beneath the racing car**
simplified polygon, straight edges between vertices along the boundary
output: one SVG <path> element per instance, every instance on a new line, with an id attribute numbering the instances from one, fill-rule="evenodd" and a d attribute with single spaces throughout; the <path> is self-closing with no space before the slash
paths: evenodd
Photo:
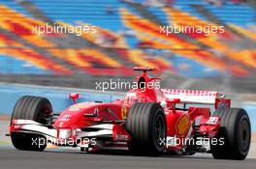
<path id="1" fill-rule="evenodd" d="M 105 152 L 102 154 L 83 154 L 74 151 L 47 150 L 45 152 L 17 151 L 14 148 L 0 148 L 0 168 L 207 168 L 207 169 L 255 169 L 256 159 L 216 160 L 211 155 L 158 157 L 132 156 L 126 152 Z"/>

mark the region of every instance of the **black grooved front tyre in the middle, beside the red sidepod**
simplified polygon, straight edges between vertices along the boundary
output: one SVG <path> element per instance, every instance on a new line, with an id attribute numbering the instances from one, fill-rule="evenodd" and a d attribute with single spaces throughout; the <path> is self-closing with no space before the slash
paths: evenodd
<path id="1" fill-rule="evenodd" d="M 128 142 L 132 155 L 160 155 L 164 151 L 167 127 L 160 104 L 135 103 L 129 111 L 126 129 L 132 137 Z"/>

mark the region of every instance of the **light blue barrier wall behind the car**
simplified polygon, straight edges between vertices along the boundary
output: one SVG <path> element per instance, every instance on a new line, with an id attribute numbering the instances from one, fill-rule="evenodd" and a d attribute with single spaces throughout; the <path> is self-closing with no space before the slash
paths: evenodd
<path id="1" fill-rule="evenodd" d="M 78 101 L 104 101 L 109 102 L 114 99 L 123 99 L 121 93 L 96 92 L 82 89 L 69 88 L 54 88 L 54 87 L 40 87 L 31 85 L 16 85 L 16 84 L 0 84 L 0 114 L 11 115 L 15 107 L 16 100 L 21 96 L 41 96 L 48 98 L 51 102 L 55 112 L 61 112 L 73 103 L 69 99 L 70 93 L 80 93 Z M 256 103 L 243 103 L 244 108 L 250 117 L 251 127 L 256 131 Z"/>

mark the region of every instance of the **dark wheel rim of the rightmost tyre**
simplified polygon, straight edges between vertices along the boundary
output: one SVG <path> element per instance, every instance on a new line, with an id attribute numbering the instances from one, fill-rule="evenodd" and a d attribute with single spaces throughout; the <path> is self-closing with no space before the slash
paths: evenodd
<path id="1" fill-rule="evenodd" d="M 250 145 L 250 129 L 246 119 L 240 121 L 239 127 L 239 143 L 241 152 L 247 152 Z"/>

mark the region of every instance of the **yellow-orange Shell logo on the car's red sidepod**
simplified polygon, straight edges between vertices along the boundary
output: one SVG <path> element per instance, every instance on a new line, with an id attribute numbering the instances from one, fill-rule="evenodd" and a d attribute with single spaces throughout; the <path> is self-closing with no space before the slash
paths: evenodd
<path id="1" fill-rule="evenodd" d="M 187 115 L 182 115 L 176 124 L 176 132 L 178 135 L 185 135 L 190 127 L 190 119 Z"/>

